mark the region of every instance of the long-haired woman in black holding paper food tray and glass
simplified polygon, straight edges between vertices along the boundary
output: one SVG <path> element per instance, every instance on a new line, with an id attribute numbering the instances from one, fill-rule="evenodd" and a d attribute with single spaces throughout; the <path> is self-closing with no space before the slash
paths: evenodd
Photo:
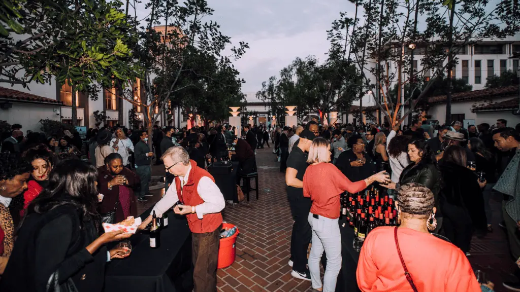
<path id="1" fill-rule="evenodd" d="M 102 233 L 96 180 L 96 168 L 81 160 L 56 165 L 48 187 L 27 209 L 0 291 L 102 291 L 106 262 L 129 255 L 105 244 L 131 234 Z"/>

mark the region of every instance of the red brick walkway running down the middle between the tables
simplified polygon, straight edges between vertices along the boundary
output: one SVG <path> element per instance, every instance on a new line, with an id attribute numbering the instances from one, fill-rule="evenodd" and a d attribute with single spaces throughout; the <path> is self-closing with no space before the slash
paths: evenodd
<path id="1" fill-rule="evenodd" d="M 251 201 L 236 206 L 227 205 L 224 220 L 240 229 L 237 239 L 237 258 L 226 269 L 218 270 L 219 291 L 312 291 L 310 282 L 291 276 L 289 249 L 292 218 L 285 193 L 284 176 L 275 161 L 272 148 L 257 150 L 259 200 L 254 192 Z M 155 172 L 162 166 L 153 166 Z M 157 169 L 155 169 L 157 168 Z M 160 198 L 160 191 L 146 203 L 139 203 L 139 210 L 146 210 Z M 495 283 L 497 292 L 506 291 L 502 281 L 509 280 L 515 264 L 509 255 L 505 230 L 500 222 L 501 197 L 493 197 L 493 233 L 484 238 L 473 238 L 472 256 L 474 268 L 484 270 Z M 427 252 L 427 251 L 425 251 Z M 341 291 L 343 292 L 343 291 Z"/>

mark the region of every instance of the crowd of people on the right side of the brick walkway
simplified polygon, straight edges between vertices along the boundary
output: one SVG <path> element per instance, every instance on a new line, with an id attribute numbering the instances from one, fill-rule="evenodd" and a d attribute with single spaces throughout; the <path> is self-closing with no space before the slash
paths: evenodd
<path id="1" fill-rule="evenodd" d="M 279 143 L 275 140 L 275 153 L 280 171 L 285 172 L 294 219 L 289 259 L 292 276 L 311 281 L 316 290 L 334 291 L 341 266 L 340 195 L 345 191 L 356 194 L 370 185 L 396 202 L 399 234 L 403 230 L 399 242 L 405 242 L 401 250 L 406 250 L 401 261 L 419 290 L 436 285 L 440 286 L 431 290 L 473 291 L 478 287 L 467 257 L 471 256 L 472 236 L 493 231 L 492 194 L 504 194 L 504 221 L 500 225 L 508 230 L 516 261 L 520 251 L 515 223 L 520 219 L 515 188 L 519 181 L 520 125 L 516 129 L 506 125 L 501 119 L 493 127 L 480 124 L 468 129 L 456 121 L 425 130 L 420 120 L 409 128 L 388 124 L 327 126 L 314 121 L 305 126 L 276 127 L 273 137 Z M 410 288 L 410 281 L 400 272 L 399 259 L 384 258 L 389 249 L 395 249 L 393 233 L 393 228 L 378 229 L 363 245 L 358 265 L 361 290 Z M 444 240 L 421 233 L 434 233 Z M 421 257 L 414 256 L 410 246 L 423 241 L 443 252 L 434 251 L 432 261 L 418 260 Z M 322 283 L 319 259 L 323 252 L 327 269 Z M 374 266 L 381 260 L 388 264 Z M 444 272 L 433 272 L 439 266 L 446 268 Z M 428 271 L 434 276 L 427 275 Z M 517 274 L 520 279 L 520 270 Z M 460 286 L 448 284 L 457 281 L 454 279 L 461 279 Z M 450 289 L 443 288 L 450 285 Z M 504 282 L 503 286 L 520 290 L 518 282 Z M 492 284 L 482 289 L 489 287 Z"/>

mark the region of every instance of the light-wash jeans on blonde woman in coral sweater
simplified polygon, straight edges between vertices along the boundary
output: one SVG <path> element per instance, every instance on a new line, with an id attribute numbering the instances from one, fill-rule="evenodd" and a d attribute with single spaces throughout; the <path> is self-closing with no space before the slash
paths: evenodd
<path id="1" fill-rule="evenodd" d="M 323 251 L 327 256 L 327 269 L 323 276 L 323 292 L 336 290 L 337 275 L 341 269 L 341 233 L 338 219 L 330 219 L 323 216 L 314 218 L 309 213 L 309 224 L 313 230 L 309 254 L 310 281 L 313 288 L 321 288 L 320 259 Z"/>

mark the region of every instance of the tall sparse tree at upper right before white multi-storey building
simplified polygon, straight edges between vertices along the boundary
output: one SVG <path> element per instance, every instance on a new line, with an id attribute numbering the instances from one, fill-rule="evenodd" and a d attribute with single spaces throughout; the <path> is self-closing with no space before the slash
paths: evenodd
<path id="1" fill-rule="evenodd" d="M 513 2 L 471 0 L 456 5 L 455 0 L 386 0 L 384 3 L 382 0 L 365 0 L 361 2 L 366 19 L 363 30 L 357 28 L 357 19 L 348 20 L 345 14 L 340 14 L 339 21 L 354 23 L 351 33 L 345 35 L 344 40 L 345 43 L 349 41 L 363 83 L 371 90 L 387 120 L 400 123 L 426 97 L 437 76 L 451 76 L 449 69 L 457 63 L 456 55 L 460 50 L 483 38 L 500 39 L 518 31 L 520 11 Z M 424 19 L 426 28 L 423 31 L 417 30 L 418 19 Z M 422 69 L 418 69 L 417 73 L 410 70 L 413 64 L 410 50 L 414 49 L 421 50 L 423 55 L 420 60 Z M 365 58 L 366 50 L 370 52 L 371 60 Z M 383 66 L 372 66 L 374 63 L 383 63 Z M 430 76 L 432 71 L 433 75 Z M 370 75 L 374 76 L 375 83 Z M 431 78 L 422 86 L 423 83 L 418 80 L 425 76 Z M 451 94 L 450 82 L 451 79 L 448 79 L 448 96 Z M 394 103 L 388 99 L 388 92 L 395 84 L 398 86 L 398 98 Z M 406 84 L 411 85 L 411 91 L 405 100 L 403 87 Z M 419 95 L 414 99 L 416 90 Z M 382 101 L 376 97 L 376 92 L 381 94 Z M 406 111 L 404 105 L 408 105 Z M 449 103 L 447 108 L 450 108 Z M 450 118 L 447 115 L 447 119 Z"/>

